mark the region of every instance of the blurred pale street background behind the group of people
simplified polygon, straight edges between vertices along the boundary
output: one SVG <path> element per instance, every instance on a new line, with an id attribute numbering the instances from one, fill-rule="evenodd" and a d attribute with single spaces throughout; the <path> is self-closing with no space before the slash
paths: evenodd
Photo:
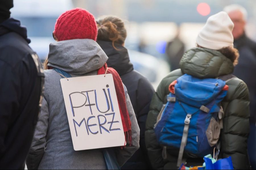
<path id="1" fill-rule="evenodd" d="M 11 17 L 28 30 L 30 46 L 41 61 L 47 58 L 56 19 L 66 10 L 80 7 L 95 18 L 115 15 L 125 21 L 129 50 L 135 70 L 154 88 L 170 70 L 170 60 L 195 47 L 197 33 L 207 18 L 226 5 L 236 3 L 247 9 L 247 35 L 256 41 L 255 0 L 14 0 Z M 173 61 L 177 62 L 178 61 Z"/>

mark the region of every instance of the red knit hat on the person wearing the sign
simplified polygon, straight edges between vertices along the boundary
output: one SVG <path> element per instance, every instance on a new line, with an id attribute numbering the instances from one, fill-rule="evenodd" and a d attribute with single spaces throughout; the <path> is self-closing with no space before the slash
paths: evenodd
<path id="1" fill-rule="evenodd" d="M 97 25 L 94 16 L 82 8 L 68 10 L 61 14 L 53 31 L 58 41 L 92 39 L 96 41 Z"/>

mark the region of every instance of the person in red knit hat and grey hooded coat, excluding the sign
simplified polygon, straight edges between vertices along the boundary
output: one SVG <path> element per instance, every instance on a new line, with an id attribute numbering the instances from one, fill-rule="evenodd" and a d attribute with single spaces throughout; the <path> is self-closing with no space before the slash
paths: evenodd
<path id="1" fill-rule="evenodd" d="M 70 24 L 72 20 L 76 23 Z M 65 31 L 61 32 L 59 29 Z M 97 75 L 97 70 L 106 63 L 108 57 L 95 41 L 96 36 L 96 22 L 88 11 L 75 8 L 63 13 L 55 24 L 54 38 L 58 42 L 49 46 L 47 66 L 61 69 L 72 77 Z M 53 69 L 45 70 L 44 73 L 45 92 L 34 139 L 26 159 L 28 169 L 106 169 L 100 149 L 73 149 L 60 84 L 62 77 Z M 139 127 L 127 90 L 123 87 L 131 120 L 133 145 L 130 146 L 128 141 L 123 149 L 113 148 L 119 166 L 139 148 Z"/>

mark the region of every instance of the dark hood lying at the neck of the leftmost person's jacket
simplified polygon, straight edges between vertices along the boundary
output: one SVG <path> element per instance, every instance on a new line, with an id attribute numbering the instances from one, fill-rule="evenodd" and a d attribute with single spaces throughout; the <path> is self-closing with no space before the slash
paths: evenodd
<path id="1" fill-rule="evenodd" d="M 8 32 L 16 32 L 21 37 L 23 37 L 28 43 L 30 43 L 30 39 L 27 36 L 26 27 L 20 25 L 20 21 L 14 18 L 9 18 L 2 23 L 0 23 L 0 35 L 3 35 Z"/>

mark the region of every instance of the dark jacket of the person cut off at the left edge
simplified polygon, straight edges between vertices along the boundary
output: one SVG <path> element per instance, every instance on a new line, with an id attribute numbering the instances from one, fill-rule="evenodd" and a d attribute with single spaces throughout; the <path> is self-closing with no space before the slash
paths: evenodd
<path id="1" fill-rule="evenodd" d="M 0 23 L 0 169 L 24 169 L 39 112 L 44 74 L 26 28 Z"/>

